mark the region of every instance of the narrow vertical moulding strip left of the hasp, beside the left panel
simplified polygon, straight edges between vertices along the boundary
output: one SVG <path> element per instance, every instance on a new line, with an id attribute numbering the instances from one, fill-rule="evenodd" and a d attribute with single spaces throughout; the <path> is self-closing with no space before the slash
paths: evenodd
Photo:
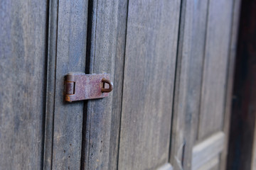
<path id="1" fill-rule="evenodd" d="M 46 123 L 43 169 L 51 169 L 53 159 L 53 114 L 55 101 L 55 58 L 57 45 L 58 1 L 51 0 L 49 5 L 48 25 L 48 61 L 46 83 Z"/>

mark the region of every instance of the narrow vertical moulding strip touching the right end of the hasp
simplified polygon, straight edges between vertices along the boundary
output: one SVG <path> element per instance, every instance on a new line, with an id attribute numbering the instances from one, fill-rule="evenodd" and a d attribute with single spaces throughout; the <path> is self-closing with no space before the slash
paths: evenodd
<path id="1" fill-rule="evenodd" d="M 114 57 L 114 91 L 112 100 L 112 117 L 110 130 L 109 169 L 117 169 L 119 152 L 119 130 L 122 111 L 122 89 L 124 78 L 124 50 L 127 30 L 128 0 L 119 0 L 117 18 L 117 46 Z"/>

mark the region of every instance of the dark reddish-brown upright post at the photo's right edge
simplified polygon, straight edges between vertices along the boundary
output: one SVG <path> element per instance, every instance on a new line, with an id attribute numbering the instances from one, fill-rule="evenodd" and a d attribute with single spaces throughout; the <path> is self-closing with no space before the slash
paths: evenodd
<path id="1" fill-rule="evenodd" d="M 241 1 L 227 169 L 252 169 L 256 120 L 256 1 Z M 239 145 L 238 145 L 239 144 Z"/>

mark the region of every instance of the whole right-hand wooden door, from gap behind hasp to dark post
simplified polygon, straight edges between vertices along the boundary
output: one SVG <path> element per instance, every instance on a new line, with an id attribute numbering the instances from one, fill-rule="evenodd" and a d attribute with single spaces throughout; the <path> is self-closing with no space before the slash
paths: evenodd
<path id="1" fill-rule="evenodd" d="M 90 67 L 116 89 L 88 101 L 82 166 L 225 169 L 240 1 L 92 6 Z"/>

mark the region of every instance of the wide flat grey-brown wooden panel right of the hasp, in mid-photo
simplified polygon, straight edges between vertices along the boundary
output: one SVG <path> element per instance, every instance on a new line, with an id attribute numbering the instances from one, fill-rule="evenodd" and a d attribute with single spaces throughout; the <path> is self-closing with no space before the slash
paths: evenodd
<path id="1" fill-rule="evenodd" d="M 169 161 L 180 1 L 129 1 L 118 169 Z"/>

